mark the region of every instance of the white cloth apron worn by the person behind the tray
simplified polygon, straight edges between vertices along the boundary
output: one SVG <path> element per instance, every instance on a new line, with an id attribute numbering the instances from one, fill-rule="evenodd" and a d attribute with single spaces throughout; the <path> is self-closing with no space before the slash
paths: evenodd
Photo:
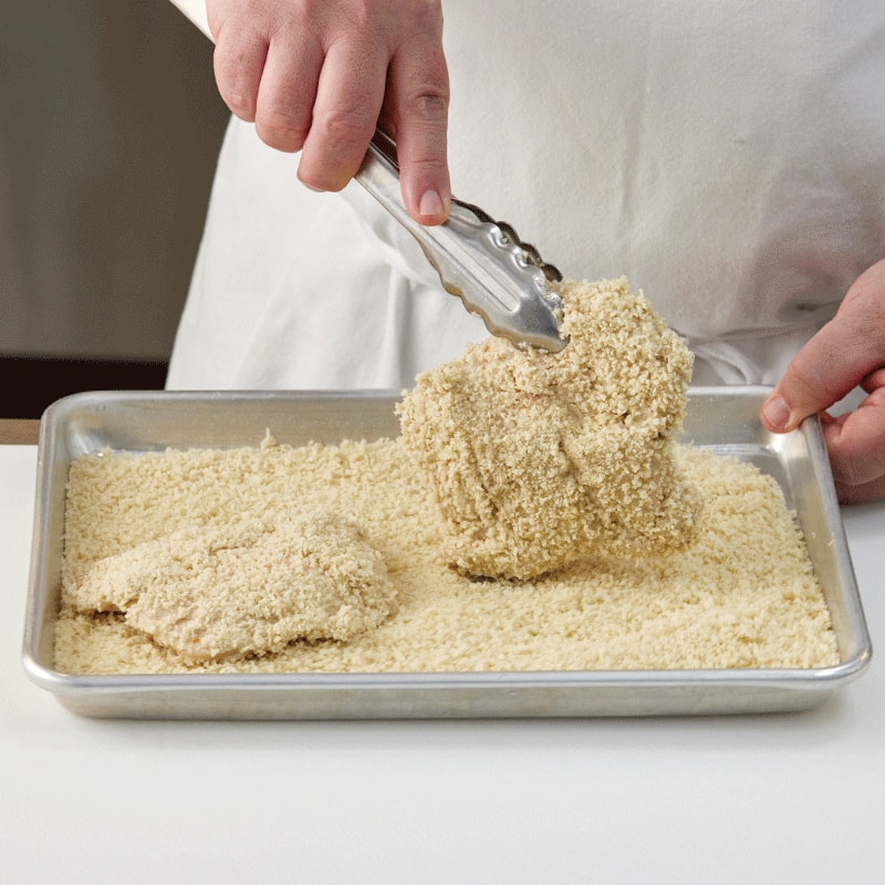
<path id="1" fill-rule="evenodd" d="M 695 383 L 774 383 L 885 257 L 879 0 L 444 11 L 455 195 L 568 278 L 627 275 Z M 295 165 L 231 122 L 168 387 L 402 388 L 487 334 L 360 185 Z"/>

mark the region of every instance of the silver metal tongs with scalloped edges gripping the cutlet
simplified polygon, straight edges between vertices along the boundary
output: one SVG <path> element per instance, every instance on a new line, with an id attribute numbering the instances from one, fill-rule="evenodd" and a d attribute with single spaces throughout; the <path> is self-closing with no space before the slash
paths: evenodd
<path id="1" fill-rule="evenodd" d="M 559 331 L 562 301 L 548 288 L 562 274 L 513 228 L 455 198 L 445 223 L 419 225 L 403 205 L 396 144 L 381 129 L 355 177 L 418 241 L 446 291 L 480 316 L 492 335 L 553 353 L 565 346 Z"/>

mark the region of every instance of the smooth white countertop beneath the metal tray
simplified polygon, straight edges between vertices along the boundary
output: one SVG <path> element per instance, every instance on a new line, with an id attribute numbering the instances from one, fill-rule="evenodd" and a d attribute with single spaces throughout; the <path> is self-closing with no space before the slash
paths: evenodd
<path id="1" fill-rule="evenodd" d="M 885 874 L 885 504 L 843 511 L 873 637 L 803 714 L 77 717 L 21 666 L 37 448 L 0 446 L 0 882 L 833 883 Z"/>

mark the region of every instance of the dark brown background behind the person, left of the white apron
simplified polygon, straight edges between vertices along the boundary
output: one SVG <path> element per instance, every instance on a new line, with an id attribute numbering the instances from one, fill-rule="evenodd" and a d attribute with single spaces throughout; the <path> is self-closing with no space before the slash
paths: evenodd
<path id="1" fill-rule="evenodd" d="M 167 0 L 0 4 L 0 418 L 158 389 L 228 111 Z"/>

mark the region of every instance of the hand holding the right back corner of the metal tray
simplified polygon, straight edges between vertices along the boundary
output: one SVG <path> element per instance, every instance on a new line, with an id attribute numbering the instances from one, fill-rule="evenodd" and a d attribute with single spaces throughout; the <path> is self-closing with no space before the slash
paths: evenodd
<path id="1" fill-rule="evenodd" d="M 866 397 L 839 417 L 825 409 L 861 386 Z M 885 261 L 865 271 L 836 315 L 795 355 L 762 407 L 772 431 L 821 413 L 842 503 L 885 498 Z"/>

